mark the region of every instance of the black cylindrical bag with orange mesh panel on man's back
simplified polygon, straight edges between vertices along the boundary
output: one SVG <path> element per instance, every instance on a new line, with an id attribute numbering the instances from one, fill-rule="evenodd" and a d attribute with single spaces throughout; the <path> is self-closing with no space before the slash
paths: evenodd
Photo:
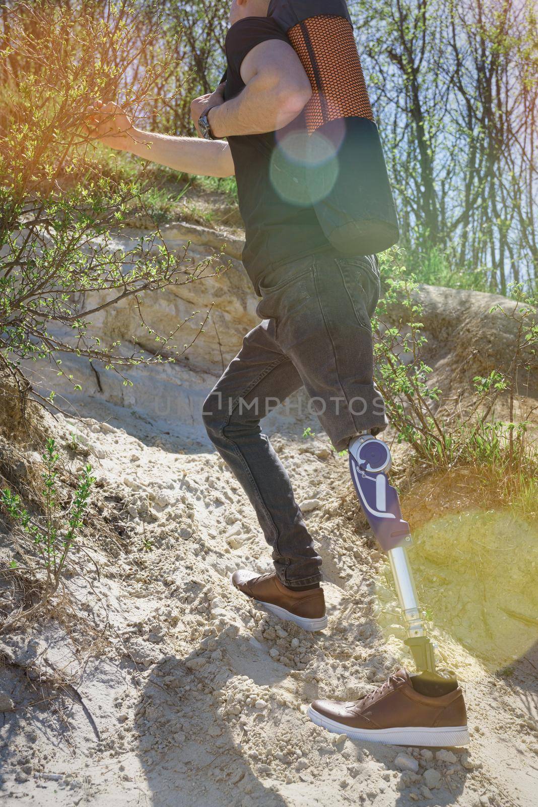
<path id="1" fill-rule="evenodd" d="M 323 138 L 330 163 L 317 173 L 312 198 L 325 236 L 345 255 L 388 249 L 399 238 L 398 221 L 346 2 L 271 0 L 268 15 L 312 84 L 305 108 L 312 150 Z"/>

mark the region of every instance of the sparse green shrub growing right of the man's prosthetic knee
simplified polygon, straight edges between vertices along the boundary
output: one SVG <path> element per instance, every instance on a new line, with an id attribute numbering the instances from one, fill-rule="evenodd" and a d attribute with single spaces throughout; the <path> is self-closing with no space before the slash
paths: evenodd
<path id="1" fill-rule="evenodd" d="M 373 321 L 376 380 L 396 440 L 408 441 L 431 468 L 464 463 L 486 468 L 504 500 L 517 501 L 524 512 L 532 512 L 529 503 L 536 493 L 538 458 L 536 446 L 528 441 L 530 423 L 525 417 L 516 418 L 515 403 L 520 384 L 527 383 L 538 367 L 536 299 L 521 284 L 512 284 L 515 305 L 491 307 L 490 313 L 499 312 L 515 324 L 514 353 L 507 368 L 474 377 L 474 403 L 466 416 L 457 416 L 441 408 L 442 391 L 428 383 L 432 370 L 422 359 L 426 339 L 420 296 L 403 250 L 384 253 L 382 271 L 387 290 Z M 402 312 L 396 325 L 391 323 L 391 307 Z M 508 420 L 495 415 L 500 395 L 509 399 Z"/>

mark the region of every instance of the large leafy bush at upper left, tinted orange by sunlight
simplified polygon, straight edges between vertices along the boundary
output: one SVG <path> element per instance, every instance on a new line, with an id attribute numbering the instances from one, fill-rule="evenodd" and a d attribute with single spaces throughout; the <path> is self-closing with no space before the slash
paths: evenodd
<path id="1" fill-rule="evenodd" d="M 145 19 L 139 5 L 93 11 L 91 4 L 15 2 L 3 20 L 10 31 L 0 50 L 0 370 L 19 381 L 28 359 L 46 358 L 63 374 L 62 353 L 104 362 L 123 383 L 129 366 L 175 361 L 188 347 L 180 344 L 184 322 L 165 333 L 143 322 L 155 341 L 148 353 L 136 344 L 101 345 L 92 315 L 208 276 L 207 265 L 185 269 L 184 253 L 168 250 L 156 223 L 134 249 L 114 245 L 133 206 L 151 216 L 167 199 L 154 190 L 148 208 L 146 169 L 102 157 L 101 146 L 96 159 L 81 123 L 93 98 L 143 105 L 169 65 L 163 54 L 138 71 L 134 86 L 131 45 Z M 147 47 L 151 36 L 159 40 L 155 19 L 147 36 Z"/>

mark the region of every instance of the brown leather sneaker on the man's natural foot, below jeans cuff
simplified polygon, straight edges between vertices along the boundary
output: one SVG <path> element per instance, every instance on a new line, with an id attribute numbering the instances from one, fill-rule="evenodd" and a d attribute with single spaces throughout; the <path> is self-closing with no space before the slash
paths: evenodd
<path id="1" fill-rule="evenodd" d="M 252 597 L 275 617 L 295 622 L 304 630 L 323 630 L 327 627 L 325 596 L 322 588 L 295 592 L 280 583 L 274 571 L 257 577 L 246 569 L 238 569 L 231 581 L 240 592 Z"/>

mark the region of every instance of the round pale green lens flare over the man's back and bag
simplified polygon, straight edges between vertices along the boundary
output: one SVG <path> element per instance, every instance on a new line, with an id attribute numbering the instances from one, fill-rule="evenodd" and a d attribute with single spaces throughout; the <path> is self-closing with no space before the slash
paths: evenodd
<path id="1" fill-rule="evenodd" d="M 294 132 L 275 147 L 269 176 L 283 202 L 309 207 L 325 199 L 338 177 L 338 157 L 333 143 L 316 132 Z"/>

